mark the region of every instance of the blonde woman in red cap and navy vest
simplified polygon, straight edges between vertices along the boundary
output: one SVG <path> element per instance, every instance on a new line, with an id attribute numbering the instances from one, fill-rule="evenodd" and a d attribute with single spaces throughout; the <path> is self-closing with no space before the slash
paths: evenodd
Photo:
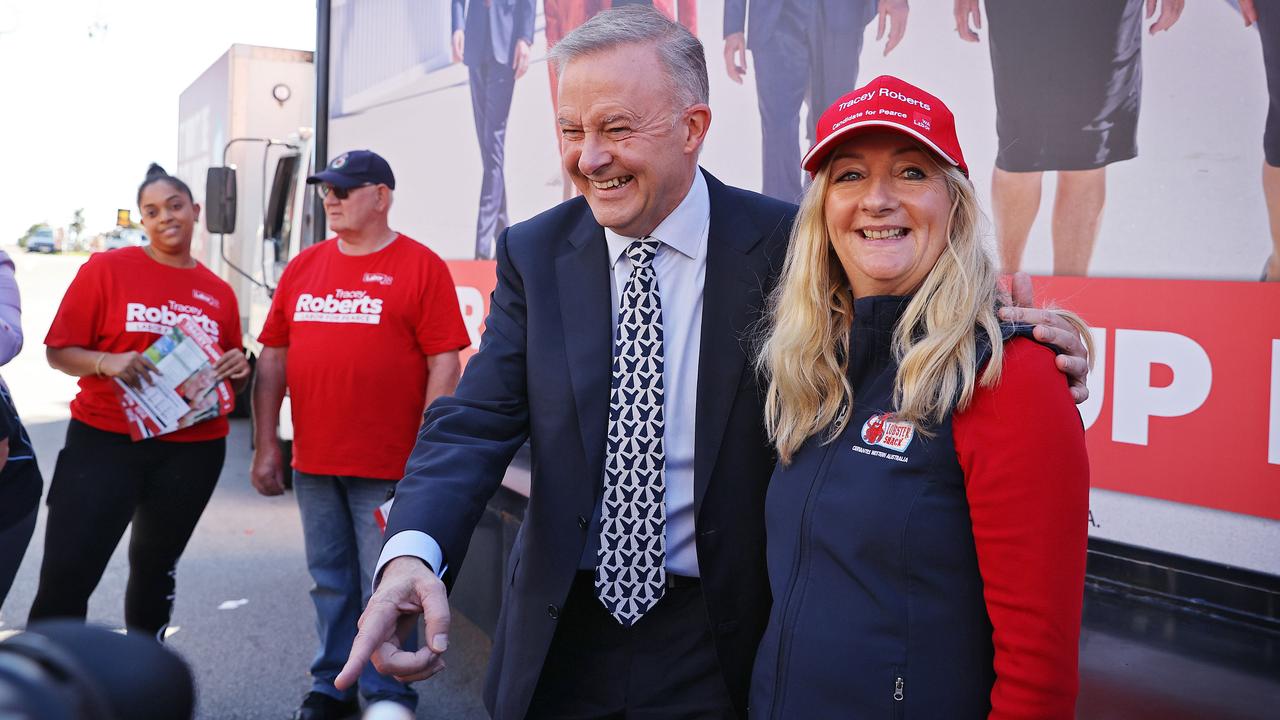
<path id="1" fill-rule="evenodd" d="M 879 77 L 804 168 L 759 359 L 780 464 L 751 716 L 1073 717 L 1084 429 L 1053 350 L 1000 319 L 955 120 Z"/>

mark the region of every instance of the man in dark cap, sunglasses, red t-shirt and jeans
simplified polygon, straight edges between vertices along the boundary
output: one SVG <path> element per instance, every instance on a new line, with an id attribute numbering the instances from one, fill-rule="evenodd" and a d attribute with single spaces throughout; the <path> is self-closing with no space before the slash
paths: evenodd
<path id="1" fill-rule="evenodd" d="M 324 720 L 360 710 L 355 688 L 333 680 L 372 585 L 383 542 L 374 511 L 401 478 L 422 409 L 453 392 L 470 340 L 444 261 L 387 223 L 396 188 L 387 160 L 352 150 L 307 183 L 337 237 L 284 269 L 259 336 L 252 480 L 262 495 L 284 492 L 275 429 L 288 387 L 293 489 L 320 633 L 311 692 L 294 717 Z M 417 705 L 408 685 L 372 667 L 358 683 L 369 702 Z"/>

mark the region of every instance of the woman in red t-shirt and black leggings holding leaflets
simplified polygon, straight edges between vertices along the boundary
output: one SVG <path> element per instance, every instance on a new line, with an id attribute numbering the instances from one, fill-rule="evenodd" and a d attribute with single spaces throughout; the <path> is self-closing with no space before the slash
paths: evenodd
<path id="1" fill-rule="evenodd" d="M 31 620 L 84 618 L 111 552 L 131 523 L 124 621 L 163 639 L 174 570 L 205 510 L 227 451 L 227 419 L 133 442 L 115 380 L 156 374 L 141 354 L 191 318 L 220 347 L 218 380 L 250 378 L 230 286 L 191 256 L 200 205 L 180 179 L 151 165 L 138 188 L 151 243 L 100 252 L 81 268 L 45 337 L 49 364 L 81 378 L 67 445 L 49 488 L 45 560 Z"/>

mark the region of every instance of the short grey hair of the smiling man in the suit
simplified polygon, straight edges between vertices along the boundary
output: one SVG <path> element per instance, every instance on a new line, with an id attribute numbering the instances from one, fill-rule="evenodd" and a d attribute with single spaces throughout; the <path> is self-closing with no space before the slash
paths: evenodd
<path id="1" fill-rule="evenodd" d="M 585 55 L 650 42 L 667 68 L 667 81 L 672 96 L 682 105 L 680 109 L 707 102 L 710 83 L 703 44 L 653 6 L 625 5 L 603 12 L 557 42 L 548 59 L 556 65 L 556 74 L 561 74 L 564 65 Z"/>

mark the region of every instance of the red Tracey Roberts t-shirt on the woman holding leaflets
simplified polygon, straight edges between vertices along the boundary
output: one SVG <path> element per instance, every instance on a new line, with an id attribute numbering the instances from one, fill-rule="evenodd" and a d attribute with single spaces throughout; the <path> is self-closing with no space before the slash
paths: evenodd
<path id="1" fill-rule="evenodd" d="M 209 268 L 198 263 L 195 268 L 164 265 L 141 247 L 97 252 L 81 265 L 67 288 L 45 345 L 141 352 L 184 315 L 223 350 L 243 350 L 236 293 Z M 72 418 L 100 430 L 129 432 L 111 378 L 81 378 Z M 227 432 L 227 418 L 220 416 L 157 439 L 196 442 L 225 437 Z"/>

